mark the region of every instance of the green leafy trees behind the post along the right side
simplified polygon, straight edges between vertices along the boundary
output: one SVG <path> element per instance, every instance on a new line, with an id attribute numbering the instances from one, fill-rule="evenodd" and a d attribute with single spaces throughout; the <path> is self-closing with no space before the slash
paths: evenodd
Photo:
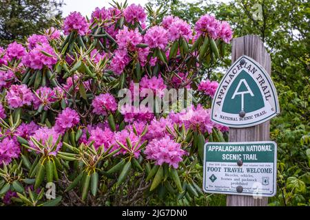
<path id="1" fill-rule="evenodd" d="M 309 1 L 236 0 L 229 3 L 178 0 L 165 3 L 167 14 L 194 23 L 202 14 L 214 12 L 229 21 L 234 37 L 257 34 L 271 54 L 272 78 L 281 114 L 271 121 L 271 138 L 278 143 L 278 197 L 271 205 L 309 204 L 310 58 Z M 258 13 L 258 14 L 257 14 Z M 230 52 L 224 63 L 230 65 Z M 220 69 L 223 72 L 223 69 Z M 214 78 L 219 74 L 208 74 Z M 301 144 L 300 144 L 300 138 Z"/>

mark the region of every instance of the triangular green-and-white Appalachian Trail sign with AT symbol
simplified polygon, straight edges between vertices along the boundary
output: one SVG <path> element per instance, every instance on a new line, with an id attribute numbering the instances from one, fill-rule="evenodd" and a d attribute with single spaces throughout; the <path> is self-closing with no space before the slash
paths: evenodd
<path id="1" fill-rule="evenodd" d="M 255 126 L 280 113 L 269 74 L 252 58 L 240 56 L 218 86 L 211 120 L 233 128 Z"/>

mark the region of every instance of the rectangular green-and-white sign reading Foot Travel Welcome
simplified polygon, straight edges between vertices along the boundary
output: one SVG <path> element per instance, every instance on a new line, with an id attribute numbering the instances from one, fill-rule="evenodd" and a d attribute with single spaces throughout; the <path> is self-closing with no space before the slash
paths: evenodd
<path id="1" fill-rule="evenodd" d="M 203 190 L 229 195 L 276 195 L 276 142 L 205 144 Z"/>

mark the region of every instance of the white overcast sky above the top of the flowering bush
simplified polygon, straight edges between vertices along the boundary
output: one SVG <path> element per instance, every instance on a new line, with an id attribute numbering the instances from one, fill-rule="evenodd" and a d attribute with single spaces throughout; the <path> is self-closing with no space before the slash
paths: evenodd
<path id="1" fill-rule="evenodd" d="M 125 0 L 117 0 L 118 3 L 124 2 Z M 195 2 L 196 0 L 186 0 L 187 2 Z M 81 12 L 84 16 L 90 17 L 92 11 L 96 7 L 99 8 L 109 8 L 110 4 L 113 3 L 112 0 L 64 0 L 65 5 L 63 5 L 63 17 L 67 17 L 70 12 Z M 147 0 L 127 0 L 128 5 L 135 3 L 136 5 L 141 4 L 145 5 Z"/>

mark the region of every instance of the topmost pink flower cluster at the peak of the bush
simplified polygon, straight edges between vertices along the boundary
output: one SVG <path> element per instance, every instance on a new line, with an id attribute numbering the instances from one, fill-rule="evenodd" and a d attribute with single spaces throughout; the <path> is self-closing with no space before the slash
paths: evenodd
<path id="1" fill-rule="evenodd" d="M 146 13 L 143 7 L 139 5 L 132 4 L 125 8 L 124 10 L 124 17 L 128 23 L 133 24 L 134 22 L 141 22 L 143 23 L 146 19 Z"/>

